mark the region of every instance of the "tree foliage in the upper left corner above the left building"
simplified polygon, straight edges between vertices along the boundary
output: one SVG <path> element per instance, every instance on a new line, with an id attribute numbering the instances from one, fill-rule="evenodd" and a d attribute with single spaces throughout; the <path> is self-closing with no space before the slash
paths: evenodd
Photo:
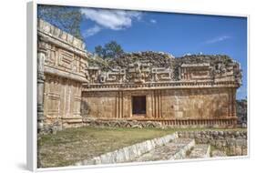
<path id="1" fill-rule="evenodd" d="M 79 7 L 38 5 L 37 16 L 77 38 L 82 38 L 80 30 L 82 14 Z"/>

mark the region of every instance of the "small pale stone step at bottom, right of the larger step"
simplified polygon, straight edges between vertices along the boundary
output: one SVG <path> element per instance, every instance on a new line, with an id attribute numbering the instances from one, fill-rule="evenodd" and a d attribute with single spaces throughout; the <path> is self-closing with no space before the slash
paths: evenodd
<path id="1" fill-rule="evenodd" d="M 187 158 L 210 158 L 210 145 L 196 144 Z"/>

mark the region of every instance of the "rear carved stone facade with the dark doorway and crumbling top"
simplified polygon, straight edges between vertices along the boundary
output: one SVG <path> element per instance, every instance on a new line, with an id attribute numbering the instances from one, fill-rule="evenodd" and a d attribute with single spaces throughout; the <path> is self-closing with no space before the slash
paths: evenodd
<path id="1" fill-rule="evenodd" d="M 107 71 L 87 68 L 95 76 L 83 85 L 85 117 L 153 121 L 170 127 L 236 126 L 236 89 L 241 86 L 241 69 L 230 57 L 174 58 L 154 52 L 134 56 L 111 60 L 115 62 L 108 63 L 114 66 Z M 144 103 L 136 102 L 137 97 Z"/>

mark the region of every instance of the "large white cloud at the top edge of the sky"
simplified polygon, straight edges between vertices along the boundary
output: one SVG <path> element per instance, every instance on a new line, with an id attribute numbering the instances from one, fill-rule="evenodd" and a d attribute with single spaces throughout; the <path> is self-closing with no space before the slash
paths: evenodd
<path id="1" fill-rule="evenodd" d="M 142 13 L 125 10 L 108 10 L 108 9 L 81 9 L 83 15 L 108 29 L 121 30 L 132 25 L 132 20 L 140 20 Z"/>

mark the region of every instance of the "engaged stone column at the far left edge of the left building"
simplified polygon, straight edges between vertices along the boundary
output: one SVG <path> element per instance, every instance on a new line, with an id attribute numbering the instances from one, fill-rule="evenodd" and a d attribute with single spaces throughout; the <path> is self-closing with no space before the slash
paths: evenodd
<path id="1" fill-rule="evenodd" d="M 44 64 L 46 48 L 38 46 L 37 50 L 37 132 L 44 130 Z"/>

